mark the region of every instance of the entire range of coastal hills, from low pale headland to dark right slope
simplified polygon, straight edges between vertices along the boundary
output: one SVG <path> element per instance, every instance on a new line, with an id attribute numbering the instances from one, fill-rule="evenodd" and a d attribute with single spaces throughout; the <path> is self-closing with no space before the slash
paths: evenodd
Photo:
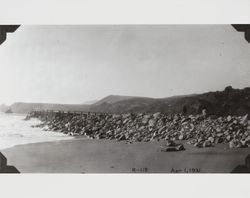
<path id="1" fill-rule="evenodd" d="M 34 110 L 63 110 L 107 113 L 164 112 L 168 114 L 198 114 L 206 109 L 212 115 L 245 115 L 250 113 L 250 88 L 173 96 L 167 98 L 147 98 L 136 96 L 107 96 L 94 104 L 45 104 L 14 103 L 10 106 L 14 113 L 28 113 Z"/>

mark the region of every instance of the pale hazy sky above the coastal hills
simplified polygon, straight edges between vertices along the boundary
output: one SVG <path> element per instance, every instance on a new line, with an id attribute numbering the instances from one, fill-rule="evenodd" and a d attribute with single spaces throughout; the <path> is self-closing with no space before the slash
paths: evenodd
<path id="1" fill-rule="evenodd" d="M 249 76 L 250 44 L 231 25 L 24 25 L 0 46 L 0 104 L 161 98 Z"/>

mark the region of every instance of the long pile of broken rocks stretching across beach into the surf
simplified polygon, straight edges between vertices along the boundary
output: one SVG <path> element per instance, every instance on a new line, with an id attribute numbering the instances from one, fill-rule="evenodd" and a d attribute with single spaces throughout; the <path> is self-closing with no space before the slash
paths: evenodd
<path id="1" fill-rule="evenodd" d="M 196 147 L 227 143 L 230 148 L 250 147 L 250 122 L 245 116 L 213 117 L 163 113 L 77 113 L 40 111 L 26 119 L 38 118 L 44 130 L 58 131 L 92 139 L 118 141 L 187 141 Z"/>

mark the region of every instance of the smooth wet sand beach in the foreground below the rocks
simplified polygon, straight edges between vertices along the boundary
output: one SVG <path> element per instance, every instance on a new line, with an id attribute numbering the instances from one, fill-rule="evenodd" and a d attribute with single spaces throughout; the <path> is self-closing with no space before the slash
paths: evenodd
<path id="1" fill-rule="evenodd" d="M 18 145 L 1 150 L 21 173 L 230 173 L 245 164 L 250 148 L 227 145 L 160 152 L 163 142 L 126 144 L 112 140 L 73 139 Z"/>

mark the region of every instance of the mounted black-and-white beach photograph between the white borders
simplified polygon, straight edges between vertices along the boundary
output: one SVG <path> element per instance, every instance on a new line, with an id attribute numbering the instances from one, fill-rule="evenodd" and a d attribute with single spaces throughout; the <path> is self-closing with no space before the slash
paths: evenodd
<path id="1" fill-rule="evenodd" d="M 1 173 L 249 173 L 250 25 L 0 25 Z"/>

